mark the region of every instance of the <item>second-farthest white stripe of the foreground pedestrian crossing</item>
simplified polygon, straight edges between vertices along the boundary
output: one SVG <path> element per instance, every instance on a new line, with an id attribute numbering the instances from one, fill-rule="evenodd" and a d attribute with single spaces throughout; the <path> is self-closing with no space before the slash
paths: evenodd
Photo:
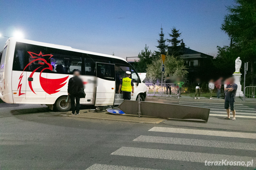
<path id="1" fill-rule="evenodd" d="M 191 145 L 191 146 L 205 146 L 214 148 L 228 148 L 228 149 L 242 149 L 242 150 L 256 150 L 255 143 L 240 143 L 217 140 L 201 140 L 201 139 L 187 139 L 177 137 L 161 137 L 161 136 L 144 136 L 141 135 L 133 141 L 151 142 L 151 143 L 166 143 L 175 145 Z"/>

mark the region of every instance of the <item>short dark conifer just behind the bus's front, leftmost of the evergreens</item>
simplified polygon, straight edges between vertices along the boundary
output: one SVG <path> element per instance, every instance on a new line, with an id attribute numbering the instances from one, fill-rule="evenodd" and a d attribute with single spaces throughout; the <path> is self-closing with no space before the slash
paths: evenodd
<path id="1" fill-rule="evenodd" d="M 155 56 L 154 52 L 148 50 L 147 44 L 145 46 L 145 51 L 141 50 L 141 53 L 138 54 L 139 61 L 134 60 L 133 66 L 137 72 L 146 72 L 147 65 L 151 64 Z"/>

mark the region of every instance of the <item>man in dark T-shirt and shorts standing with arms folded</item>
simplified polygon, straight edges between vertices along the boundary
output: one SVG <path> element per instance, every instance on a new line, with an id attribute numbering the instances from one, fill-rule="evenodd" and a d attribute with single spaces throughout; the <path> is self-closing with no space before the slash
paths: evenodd
<path id="1" fill-rule="evenodd" d="M 230 77 L 228 81 L 229 81 L 229 84 L 227 85 L 226 88 L 224 88 L 224 91 L 226 91 L 224 108 L 227 110 L 228 117 L 225 117 L 224 119 L 230 119 L 229 115 L 231 110 L 233 113 L 232 120 L 236 120 L 236 111 L 234 109 L 234 106 L 235 106 L 237 84 L 234 83 L 235 81 L 234 77 Z"/>

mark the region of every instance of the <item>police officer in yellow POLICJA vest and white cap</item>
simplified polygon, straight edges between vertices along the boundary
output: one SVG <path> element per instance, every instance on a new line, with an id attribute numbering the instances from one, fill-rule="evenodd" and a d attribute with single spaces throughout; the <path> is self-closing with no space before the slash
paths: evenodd
<path id="1" fill-rule="evenodd" d="M 118 93 L 120 93 L 120 90 L 123 91 L 123 99 L 125 100 L 131 100 L 131 92 L 133 93 L 133 81 L 130 79 L 131 72 L 127 71 L 125 72 L 125 78 L 120 82 Z"/>

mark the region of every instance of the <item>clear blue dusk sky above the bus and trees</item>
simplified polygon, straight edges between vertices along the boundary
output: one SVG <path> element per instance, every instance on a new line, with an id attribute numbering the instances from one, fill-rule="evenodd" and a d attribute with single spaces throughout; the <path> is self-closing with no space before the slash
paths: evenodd
<path id="1" fill-rule="evenodd" d="M 175 26 L 187 47 L 216 56 L 229 45 L 221 31 L 233 0 L 177 1 L 4 1 L 0 0 L 0 34 L 15 30 L 24 38 L 72 48 L 138 56 L 145 44 L 157 50 L 162 24 L 165 38 Z M 0 37 L 0 48 L 7 38 Z M 134 60 L 134 59 L 131 59 Z"/>

